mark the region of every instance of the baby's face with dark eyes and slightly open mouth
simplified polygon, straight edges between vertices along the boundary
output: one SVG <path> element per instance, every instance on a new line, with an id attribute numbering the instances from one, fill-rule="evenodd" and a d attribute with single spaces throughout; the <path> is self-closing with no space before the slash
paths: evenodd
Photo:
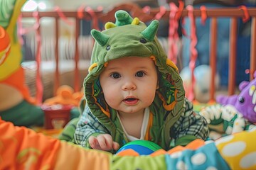
<path id="1" fill-rule="evenodd" d="M 100 85 L 107 104 L 119 113 L 143 112 L 154 101 L 156 67 L 148 57 L 112 60 L 100 74 Z"/>

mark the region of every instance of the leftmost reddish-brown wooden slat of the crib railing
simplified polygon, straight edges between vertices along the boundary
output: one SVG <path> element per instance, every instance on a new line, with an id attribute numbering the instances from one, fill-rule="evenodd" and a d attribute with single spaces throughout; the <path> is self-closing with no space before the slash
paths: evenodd
<path id="1" fill-rule="evenodd" d="M 59 64 L 59 54 L 58 54 L 58 37 L 59 37 L 59 24 L 58 24 L 58 18 L 55 18 L 55 79 L 54 79 L 54 88 L 53 88 L 53 94 L 56 96 L 57 89 L 60 86 L 60 73 L 58 69 Z"/>

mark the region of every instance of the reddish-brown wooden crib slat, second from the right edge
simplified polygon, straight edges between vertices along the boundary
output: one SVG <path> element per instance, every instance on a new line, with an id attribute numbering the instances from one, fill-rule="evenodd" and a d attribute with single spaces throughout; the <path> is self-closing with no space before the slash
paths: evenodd
<path id="1" fill-rule="evenodd" d="M 230 20 L 230 56 L 229 56 L 229 70 L 228 70 L 228 94 L 235 94 L 235 65 L 236 65 L 236 45 L 238 35 L 238 20 L 233 17 Z"/>

